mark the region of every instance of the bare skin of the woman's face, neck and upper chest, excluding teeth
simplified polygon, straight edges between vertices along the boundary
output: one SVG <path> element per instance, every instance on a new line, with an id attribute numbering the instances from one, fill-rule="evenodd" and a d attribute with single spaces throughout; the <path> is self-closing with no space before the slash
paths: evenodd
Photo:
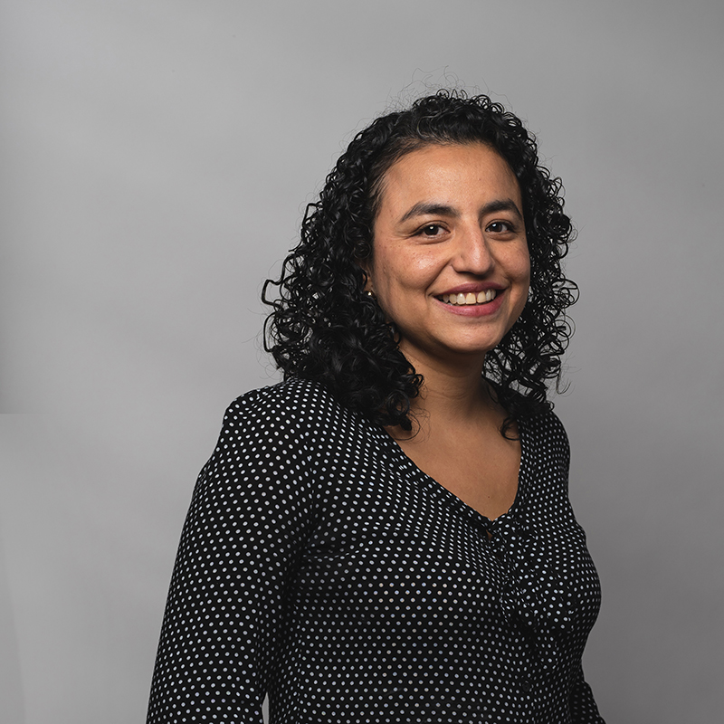
<path id="1" fill-rule="evenodd" d="M 388 432 L 421 470 L 490 519 L 510 509 L 518 490 L 519 442 L 500 434 L 506 412 L 481 372 L 485 354 L 528 298 L 522 209 L 518 181 L 492 148 L 417 149 L 383 179 L 373 256 L 365 264 L 367 289 L 424 376 L 413 401 L 419 429 Z M 442 299 L 489 288 L 497 293 L 489 305 Z"/>

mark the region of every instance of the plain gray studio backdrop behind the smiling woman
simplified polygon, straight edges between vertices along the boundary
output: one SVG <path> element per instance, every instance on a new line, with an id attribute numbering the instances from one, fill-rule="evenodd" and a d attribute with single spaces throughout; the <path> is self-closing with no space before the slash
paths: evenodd
<path id="1" fill-rule="evenodd" d="M 0 5 L 0 711 L 141 721 L 259 291 L 354 129 L 426 83 L 538 133 L 579 230 L 558 398 L 609 722 L 719 721 L 724 5 Z"/>

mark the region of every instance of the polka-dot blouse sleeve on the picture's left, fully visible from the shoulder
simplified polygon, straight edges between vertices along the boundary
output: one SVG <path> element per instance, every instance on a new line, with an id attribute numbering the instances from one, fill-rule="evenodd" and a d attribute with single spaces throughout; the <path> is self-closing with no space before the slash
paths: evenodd
<path id="1" fill-rule="evenodd" d="M 226 411 L 176 556 L 148 724 L 262 724 L 284 587 L 310 523 L 304 436 L 258 392 Z"/>

